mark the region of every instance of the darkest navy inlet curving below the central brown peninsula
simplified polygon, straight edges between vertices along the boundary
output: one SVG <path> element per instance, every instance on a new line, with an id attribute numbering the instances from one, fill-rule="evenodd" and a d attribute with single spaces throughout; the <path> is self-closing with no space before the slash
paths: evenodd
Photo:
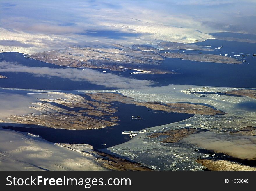
<path id="1" fill-rule="evenodd" d="M 114 102 L 113 107 L 118 107 L 115 116 L 119 117 L 119 125 L 109 126 L 102 129 L 91 130 L 65 130 L 47 127 L 4 127 L 20 132 L 29 132 L 40 135 L 42 138 L 54 143 L 85 143 L 90 144 L 96 149 L 111 147 L 130 140 L 129 135 L 123 135 L 123 131 L 135 130 L 139 131 L 144 128 L 150 128 L 168 123 L 174 123 L 188 119 L 194 116 L 186 113 L 167 113 L 163 111 L 154 112 L 144 106 L 136 106 L 134 104 L 124 104 Z M 84 108 L 83 108 L 84 109 Z M 140 119 L 132 119 L 131 116 L 140 116 Z M 3 125 L 4 126 L 4 125 Z M 28 125 L 26 125 L 28 126 Z M 138 133 L 137 136 L 144 136 Z M 101 144 L 106 144 L 105 146 Z"/>

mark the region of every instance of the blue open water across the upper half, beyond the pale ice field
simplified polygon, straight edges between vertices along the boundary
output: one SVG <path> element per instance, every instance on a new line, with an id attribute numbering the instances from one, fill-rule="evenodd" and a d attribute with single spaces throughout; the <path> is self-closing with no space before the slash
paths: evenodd
<path id="1" fill-rule="evenodd" d="M 179 58 L 165 58 L 159 69 L 168 69 L 177 72 L 178 74 L 130 74 L 134 70 L 126 70 L 124 72 L 111 71 L 107 69 L 94 69 L 97 71 L 107 71 L 119 76 L 136 78 L 139 80 L 152 80 L 156 82 L 153 86 L 164 86 L 169 84 L 180 85 L 203 85 L 203 86 L 219 86 L 219 87 L 256 87 L 256 44 L 247 42 L 235 42 L 209 39 L 204 42 L 195 43 L 197 45 L 210 45 L 211 51 L 192 51 L 192 50 L 174 50 L 168 52 L 185 53 L 207 53 L 215 55 L 229 54 L 238 60 L 244 60 L 241 64 L 223 64 L 210 62 L 196 62 L 181 60 Z M 221 47 L 221 49 L 214 49 Z M 165 52 L 165 51 L 162 51 Z M 249 54 L 248 56 L 233 56 Z M 0 53 L 0 58 L 6 61 L 19 62 L 30 67 L 52 67 L 52 68 L 67 68 L 57 66 L 38 60 L 27 59 L 21 53 Z M 0 61 L 3 61 L 0 60 Z M 180 69 L 179 69 L 180 68 Z M 99 89 L 115 89 L 106 88 L 102 85 L 91 84 L 86 81 L 78 82 L 66 78 L 47 78 L 36 77 L 27 73 L 0 72 L 1 75 L 7 76 L 9 79 L 1 79 L 0 87 L 8 88 L 26 88 L 26 89 L 44 89 L 44 90 L 99 90 Z M 107 79 L 106 79 L 107 80 Z"/>

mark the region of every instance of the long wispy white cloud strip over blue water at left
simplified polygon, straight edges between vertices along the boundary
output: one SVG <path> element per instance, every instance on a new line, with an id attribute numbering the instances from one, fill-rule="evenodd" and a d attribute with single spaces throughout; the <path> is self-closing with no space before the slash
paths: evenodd
<path id="1" fill-rule="evenodd" d="M 92 69 L 66 68 L 57 69 L 49 67 L 27 67 L 18 63 L 0 62 L 0 72 L 26 72 L 35 76 L 60 77 L 73 81 L 88 81 L 92 84 L 103 85 L 109 88 L 147 88 L 153 85 L 150 80 L 137 80 L 126 78 L 111 73 L 102 73 Z"/>

